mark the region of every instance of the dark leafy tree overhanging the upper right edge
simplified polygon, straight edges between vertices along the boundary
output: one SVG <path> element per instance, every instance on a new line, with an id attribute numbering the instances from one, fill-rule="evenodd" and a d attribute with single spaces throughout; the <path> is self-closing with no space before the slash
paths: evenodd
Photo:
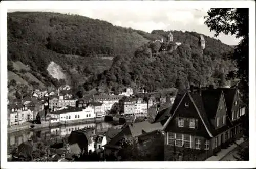
<path id="1" fill-rule="evenodd" d="M 204 22 L 215 37 L 220 33 L 236 35 L 242 38 L 234 49 L 232 59 L 237 62 L 237 75 L 244 81 L 244 93 L 248 93 L 249 82 L 249 9 L 248 8 L 212 8 L 207 12 Z M 246 96 L 246 95 L 245 95 Z M 248 97 L 244 98 L 248 103 Z"/>

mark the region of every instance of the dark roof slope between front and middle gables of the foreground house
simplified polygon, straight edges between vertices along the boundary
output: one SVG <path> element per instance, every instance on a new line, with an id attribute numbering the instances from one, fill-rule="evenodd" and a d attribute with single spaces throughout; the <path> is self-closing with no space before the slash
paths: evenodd
<path id="1" fill-rule="evenodd" d="M 202 90 L 204 108 L 210 119 L 216 116 L 221 95 L 221 90 Z"/>

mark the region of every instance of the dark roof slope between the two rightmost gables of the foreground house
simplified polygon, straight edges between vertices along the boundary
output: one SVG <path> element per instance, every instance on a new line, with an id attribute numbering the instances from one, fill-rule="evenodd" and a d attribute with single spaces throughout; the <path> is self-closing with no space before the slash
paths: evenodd
<path id="1" fill-rule="evenodd" d="M 232 89 L 232 88 L 218 88 L 218 89 L 222 90 L 224 93 L 227 112 L 228 114 L 230 114 L 233 106 L 234 96 L 236 95 L 237 89 Z"/>

